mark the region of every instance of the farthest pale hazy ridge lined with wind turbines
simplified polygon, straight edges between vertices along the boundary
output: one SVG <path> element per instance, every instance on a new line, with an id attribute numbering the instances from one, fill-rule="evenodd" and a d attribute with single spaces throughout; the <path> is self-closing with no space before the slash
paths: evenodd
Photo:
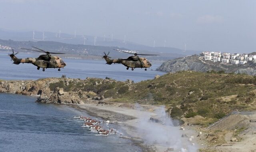
<path id="1" fill-rule="evenodd" d="M 6 31 L 0 30 L 0 38 L 4 40 L 15 40 L 15 41 L 42 41 L 43 32 L 34 31 L 34 39 L 33 39 L 33 31 L 28 32 L 17 32 L 17 31 Z M 44 40 L 45 41 L 52 41 L 52 42 L 61 42 L 67 44 L 84 44 L 84 38 L 86 45 L 94 45 L 94 36 L 90 35 L 72 35 L 66 33 L 59 33 L 57 32 L 44 32 Z M 104 37 L 97 37 L 96 38 L 96 46 L 116 46 L 119 48 L 127 48 L 131 50 L 138 50 L 138 51 L 150 51 L 150 52 L 157 52 L 164 54 L 180 54 L 184 55 L 191 55 L 191 54 L 199 54 L 202 51 L 198 50 L 182 50 L 178 48 L 171 48 L 171 47 L 152 47 L 146 46 L 142 44 L 138 44 L 135 42 L 130 42 L 119 39 L 111 40 L 111 36 Z"/>

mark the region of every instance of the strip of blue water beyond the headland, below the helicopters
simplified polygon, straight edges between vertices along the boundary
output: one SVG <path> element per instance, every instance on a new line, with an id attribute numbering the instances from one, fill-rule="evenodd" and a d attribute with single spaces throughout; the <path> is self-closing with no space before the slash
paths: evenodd
<path id="1" fill-rule="evenodd" d="M 36 58 L 39 54 L 22 54 L 16 55 L 18 58 L 33 57 Z M 57 69 L 46 69 L 42 72 L 42 69 L 37 70 L 33 64 L 12 64 L 10 56 L 7 53 L 0 53 L 0 79 L 4 80 L 35 80 L 38 78 L 47 77 L 61 77 L 62 74 L 67 78 L 82 78 L 95 77 L 95 78 L 113 78 L 115 80 L 125 81 L 127 79 L 139 82 L 141 80 L 153 79 L 157 74 L 163 75 L 164 72 L 155 71 L 160 64 L 153 64 L 147 71 L 144 69 L 136 68 L 134 71 L 126 70 L 126 67 L 122 64 L 105 64 L 105 60 L 76 60 L 63 58 L 67 64 L 64 68 L 58 72 Z M 152 70 L 151 70 L 152 69 Z"/>

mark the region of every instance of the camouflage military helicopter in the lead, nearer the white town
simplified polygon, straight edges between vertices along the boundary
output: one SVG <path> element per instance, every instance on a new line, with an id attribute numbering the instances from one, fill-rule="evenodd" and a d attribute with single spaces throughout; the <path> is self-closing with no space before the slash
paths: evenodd
<path id="1" fill-rule="evenodd" d="M 116 50 L 116 49 L 113 49 Z M 108 56 L 108 54 L 110 52 L 108 52 L 108 54 L 106 54 L 104 52 L 104 56 L 103 58 L 106 60 L 106 64 L 112 64 L 112 63 L 121 63 L 124 66 L 126 66 L 126 70 L 129 70 L 129 68 L 132 68 L 132 71 L 135 68 L 145 68 L 145 71 L 147 70 L 147 68 L 149 68 L 150 66 L 152 66 L 152 64 L 150 62 L 148 62 L 148 60 L 146 58 L 140 58 L 138 57 L 138 55 L 144 55 L 144 56 L 159 56 L 157 54 L 137 54 L 137 53 L 131 53 L 131 52 L 126 52 L 123 50 L 116 50 L 119 52 L 124 52 L 124 53 L 129 53 L 129 54 L 134 54 L 134 56 L 129 56 L 127 59 L 110 59 L 111 57 Z"/>

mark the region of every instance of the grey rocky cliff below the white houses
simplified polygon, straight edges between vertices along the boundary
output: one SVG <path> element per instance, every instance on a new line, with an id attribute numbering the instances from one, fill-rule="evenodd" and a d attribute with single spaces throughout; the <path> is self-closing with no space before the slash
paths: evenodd
<path id="1" fill-rule="evenodd" d="M 225 73 L 256 75 L 256 64 L 252 62 L 248 62 L 244 65 L 222 64 L 220 62 L 206 61 L 202 56 L 193 55 L 166 61 L 156 70 L 164 72 L 177 72 L 183 70 L 207 72 L 214 70 L 224 71 Z"/>

